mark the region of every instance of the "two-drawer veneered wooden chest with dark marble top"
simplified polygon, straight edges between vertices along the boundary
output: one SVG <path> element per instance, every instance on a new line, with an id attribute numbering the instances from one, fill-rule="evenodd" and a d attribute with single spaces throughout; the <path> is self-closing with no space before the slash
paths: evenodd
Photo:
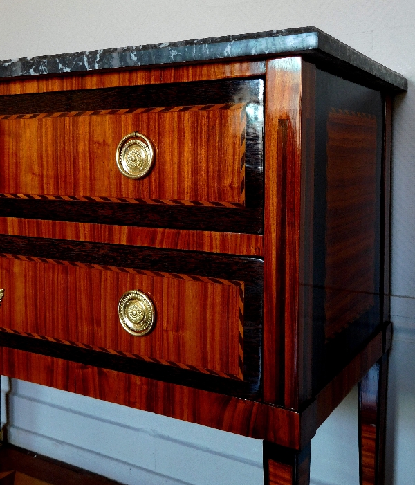
<path id="1" fill-rule="evenodd" d="M 289 485 L 361 381 L 380 479 L 405 79 L 315 28 L 83 55 L 0 66 L 0 373 L 264 439 Z"/>

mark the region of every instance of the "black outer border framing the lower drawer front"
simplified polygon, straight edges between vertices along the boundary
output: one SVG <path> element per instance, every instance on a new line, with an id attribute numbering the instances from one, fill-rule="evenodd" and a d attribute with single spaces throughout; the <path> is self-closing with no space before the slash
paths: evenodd
<path id="1" fill-rule="evenodd" d="M 221 392 L 230 396 L 260 397 L 263 261 L 257 257 L 237 257 L 185 250 L 165 250 L 142 246 L 63 241 L 59 239 L 0 235 L 0 252 L 26 257 L 102 264 L 149 271 L 163 271 L 225 278 L 245 282 L 243 313 L 243 381 L 211 376 L 158 363 L 147 363 L 100 351 L 81 349 L 0 332 L 0 345 L 37 354 L 74 360 L 159 381 Z"/>

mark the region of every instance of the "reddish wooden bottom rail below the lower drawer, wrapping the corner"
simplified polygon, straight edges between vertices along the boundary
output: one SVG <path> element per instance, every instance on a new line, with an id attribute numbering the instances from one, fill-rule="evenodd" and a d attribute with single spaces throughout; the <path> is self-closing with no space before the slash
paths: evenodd
<path id="1" fill-rule="evenodd" d="M 70 355 L 65 355 L 62 351 L 57 351 L 53 357 L 33 354 L 33 347 L 30 352 L 3 347 L 0 372 L 6 376 L 158 412 L 177 419 L 266 439 L 270 443 L 302 450 L 308 446 L 317 427 L 344 399 L 362 375 L 368 372 L 382 356 L 383 340 L 384 337 L 380 333 L 374 340 L 368 342 L 360 354 L 326 389 L 318 394 L 315 403 L 306 408 L 302 414 L 277 406 L 225 396 L 223 390 L 221 394 L 216 394 L 133 376 L 131 365 L 127 365 L 124 369 L 115 367 L 123 371 L 116 372 L 105 369 L 100 363 L 98 363 L 100 368 L 95 367 L 96 359 L 95 365 L 93 360 L 88 358 L 76 363 L 71 361 Z M 42 354 L 42 351 L 39 353 Z M 91 351 L 88 351 L 88 355 L 91 355 Z M 57 358 L 59 356 L 62 358 Z M 64 358 L 70 360 L 63 360 Z M 148 366 L 146 367 L 148 369 Z M 199 376 L 201 375 L 199 373 Z M 266 455 L 267 459 L 281 462 L 288 451 L 290 451 L 288 453 L 290 457 L 293 453 L 292 450 L 282 452 L 278 449 L 277 451 L 277 455 Z M 288 459 L 283 462 L 291 464 Z M 306 473 L 305 476 L 307 476 Z"/>

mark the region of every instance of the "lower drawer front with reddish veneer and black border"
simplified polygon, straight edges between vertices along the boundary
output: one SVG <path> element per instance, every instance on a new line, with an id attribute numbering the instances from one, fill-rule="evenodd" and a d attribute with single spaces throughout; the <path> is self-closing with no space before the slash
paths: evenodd
<path id="1" fill-rule="evenodd" d="M 0 345 L 258 395 L 261 259 L 1 239 Z M 144 336 L 120 323 L 126 306 L 119 302 L 132 290 L 154 305 L 154 327 Z"/>

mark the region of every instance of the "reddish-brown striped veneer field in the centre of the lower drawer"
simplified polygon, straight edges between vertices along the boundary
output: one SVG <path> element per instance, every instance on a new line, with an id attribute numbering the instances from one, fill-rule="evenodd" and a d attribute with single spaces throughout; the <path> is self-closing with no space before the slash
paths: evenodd
<path id="1" fill-rule="evenodd" d="M 242 378 L 243 286 L 237 282 L 7 257 L 0 268 L 1 327 Z M 131 289 L 155 306 L 156 324 L 147 336 L 130 335 L 118 319 L 118 301 Z"/>

